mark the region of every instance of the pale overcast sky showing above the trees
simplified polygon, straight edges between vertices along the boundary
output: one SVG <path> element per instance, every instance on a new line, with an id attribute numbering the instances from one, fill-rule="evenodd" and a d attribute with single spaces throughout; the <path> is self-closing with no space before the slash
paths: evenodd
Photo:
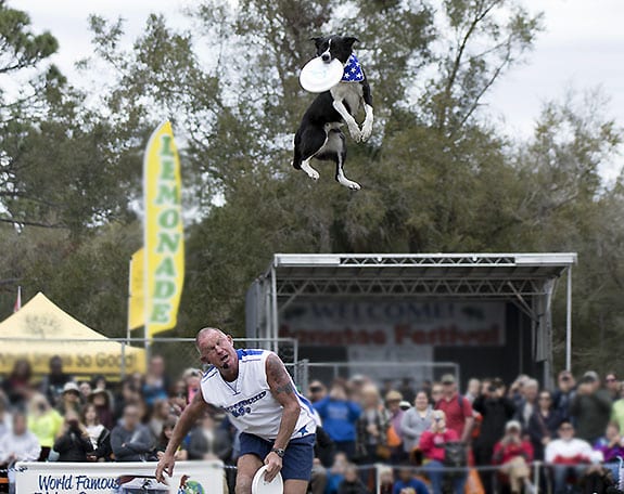
<path id="1" fill-rule="evenodd" d="M 310 0 L 311 1 L 311 0 Z M 187 26 L 180 9 L 190 0 L 9 0 L 31 16 L 37 30 L 49 29 L 61 44 L 54 55 L 64 73 L 90 55 L 87 17 L 97 13 L 126 20 L 126 40 L 141 32 L 151 12 L 166 12 L 176 26 Z M 610 116 L 624 125 L 624 0 L 525 0 L 545 13 L 546 31 L 526 63 L 509 72 L 487 102 L 509 133 L 529 135 L 545 101 L 562 99 L 570 89 L 601 87 L 611 99 Z M 373 81 L 374 86 L 374 81 Z M 613 179 L 619 166 L 603 170 Z"/>

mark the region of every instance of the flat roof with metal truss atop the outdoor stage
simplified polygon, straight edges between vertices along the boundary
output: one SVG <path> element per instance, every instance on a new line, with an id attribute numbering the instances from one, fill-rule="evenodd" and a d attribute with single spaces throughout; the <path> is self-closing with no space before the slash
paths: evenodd
<path id="1" fill-rule="evenodd" d="M 544 295 L 575 263 L 573 252 L 276 253 L 266 277 L 275 273 L 282 300 L 323 295 L 498 299 Z"/>

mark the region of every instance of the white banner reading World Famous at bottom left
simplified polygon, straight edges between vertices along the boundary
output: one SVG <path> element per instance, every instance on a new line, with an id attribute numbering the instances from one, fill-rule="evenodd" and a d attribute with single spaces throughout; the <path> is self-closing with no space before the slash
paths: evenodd
<path id="1" fill-rule="evenodd" d="M 167 484 L 156 481 L 155 463 L 18 463 L 17 494 L 221 494 L 221 461 L 179 461 Z"/>

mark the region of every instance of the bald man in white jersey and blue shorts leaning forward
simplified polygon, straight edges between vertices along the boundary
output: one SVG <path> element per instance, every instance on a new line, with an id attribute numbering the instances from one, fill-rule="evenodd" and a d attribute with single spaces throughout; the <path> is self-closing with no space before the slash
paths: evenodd
<path id="1" fill-rule="evenodd" d="M 310 480 L 316 418 L 298 394 L 278 355 L 268 350 L 235 350 L 230 335 L 206 327 L 195 339 L 201 361 L 209 364 L 201 392 L 184 408 L 156 467 L 164 480 L 174 455 L 199 418 L 212 407 L 224 410 L 240 430 L 237 494 L 250 494 L 256 471 L 267 466 L 270 482 L 281 471 L 284 494 L 305 494 Z"/>

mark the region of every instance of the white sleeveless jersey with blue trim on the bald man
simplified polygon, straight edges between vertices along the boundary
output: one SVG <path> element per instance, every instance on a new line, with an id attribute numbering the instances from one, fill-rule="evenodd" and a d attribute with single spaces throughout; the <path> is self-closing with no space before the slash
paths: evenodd
<path id="1" fill-rule="evenodd" d="M 216 367 L 211 367 L 202 379 L 202 396 L 206 403 L 224 408 L 241 432 L 272 441 L 278 435 L 283 411 L 267 382 L 266 362 L 273 353 L 268 350 L 237 350 L 237 380 L 228 382 Z M 294 382 L 292 386 L 296 393 Z M 291 439 L 314 433 L 317 425 L 311 404 L 298 393 L 296 398 L 301 412 Z"/>

